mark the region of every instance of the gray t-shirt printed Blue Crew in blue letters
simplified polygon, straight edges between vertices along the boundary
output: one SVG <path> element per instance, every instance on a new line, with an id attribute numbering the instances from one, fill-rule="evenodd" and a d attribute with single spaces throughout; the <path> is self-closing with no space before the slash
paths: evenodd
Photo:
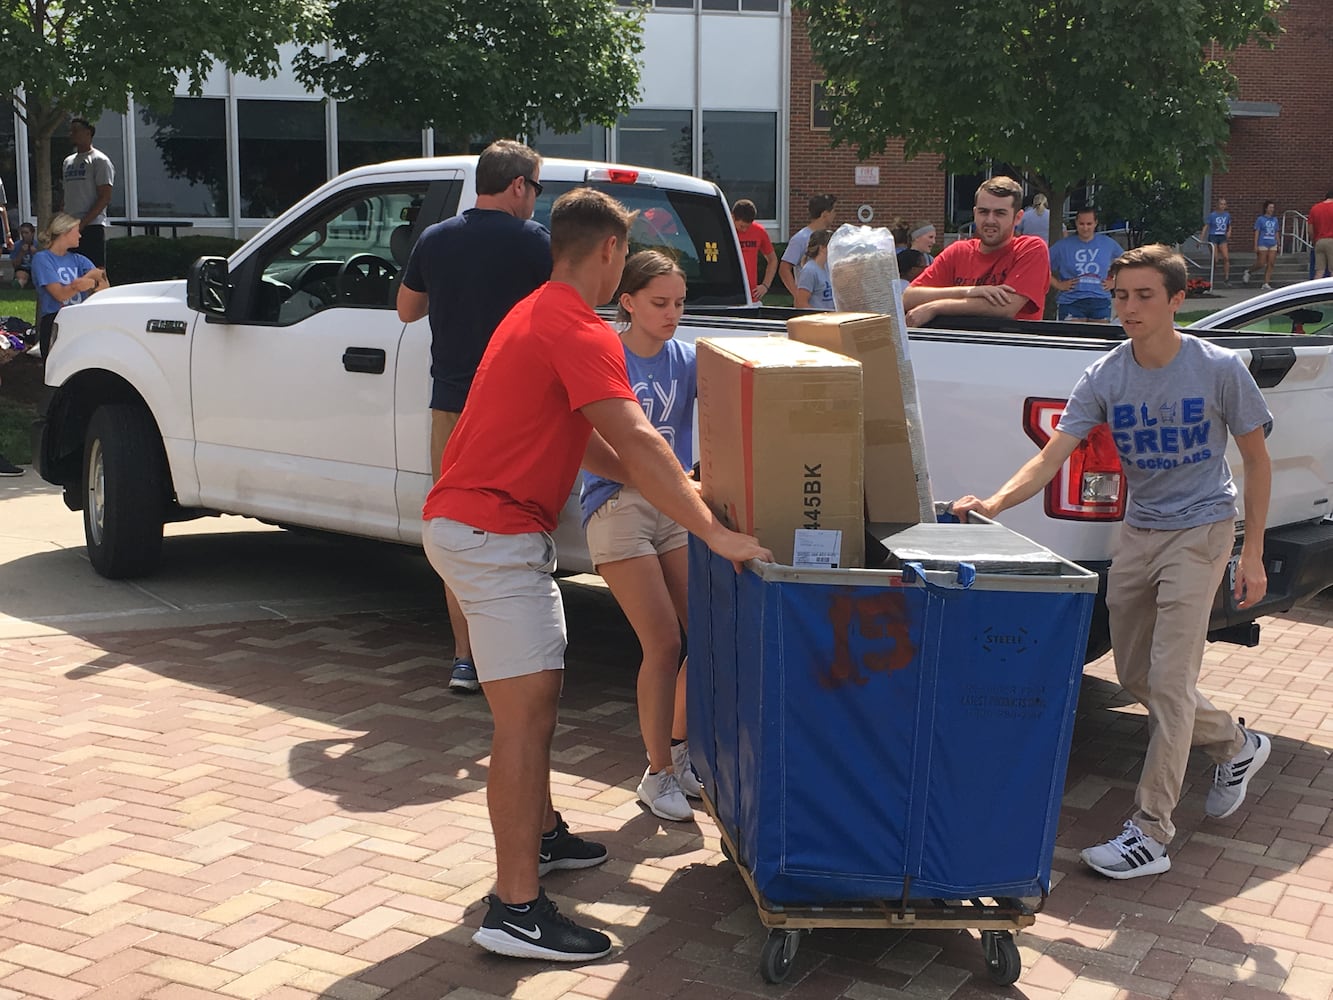
<path id="1" fill-rule="evenodd" d="M 1236 517 L 1228 431 L 1270 429 L 1273 415 L 1240 355 L 1181 333 L 1165 368 L 1140 368 L 1129 341 L 1088 367 L 1056 429 L 1082 439 L 1101 423 L 1129 484 L 1125 521 L 1182 529 Z"/>

